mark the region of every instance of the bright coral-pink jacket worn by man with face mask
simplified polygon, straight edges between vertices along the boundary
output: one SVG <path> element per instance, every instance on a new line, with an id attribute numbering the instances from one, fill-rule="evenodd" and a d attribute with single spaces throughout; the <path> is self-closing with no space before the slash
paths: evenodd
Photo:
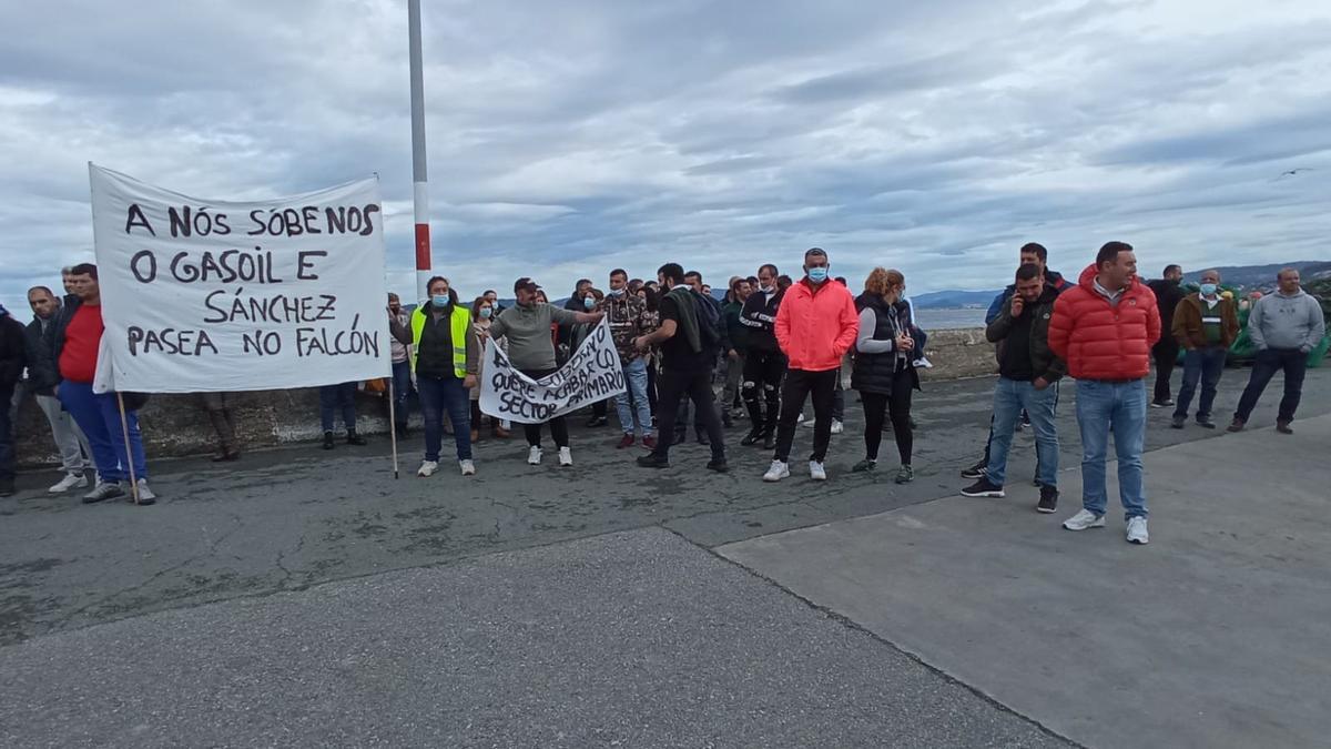
<path id="1" fill-rule="evenodd" d="M 860 335 L 860 313 L 851 292 L 832 279 L 815 291 L 808 279 L 785 291 L 776 312 L 776 344 L 791 369 L 839 369 Z"/>

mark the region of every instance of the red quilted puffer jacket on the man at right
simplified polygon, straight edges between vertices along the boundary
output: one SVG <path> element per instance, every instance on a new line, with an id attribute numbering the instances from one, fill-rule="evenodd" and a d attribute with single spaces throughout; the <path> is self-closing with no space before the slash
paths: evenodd
<path id="1" fill-rule="evenodd" d="M 1137 380 L 1151 371 L 1151 347 L 1161 337 L 1155 293 L 1135 277 L 1109 304 L 1095 291 L 1095 265 L 1075 288 L 1058 295 L 1049 321 L 1049 348 L 1078 380 Z"/>

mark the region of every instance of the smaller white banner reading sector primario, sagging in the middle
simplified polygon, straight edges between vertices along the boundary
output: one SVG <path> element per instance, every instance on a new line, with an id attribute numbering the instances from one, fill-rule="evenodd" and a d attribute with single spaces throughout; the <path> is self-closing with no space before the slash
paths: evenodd
<path id="1" fill-rule="evenodd" d="M 532 380 L 514 369 L 508 355 L 486 341 L 480 412 L 516 424 L 540 424 L 624 392 L 624 367 L 602 320 L 552 374 Z"/>

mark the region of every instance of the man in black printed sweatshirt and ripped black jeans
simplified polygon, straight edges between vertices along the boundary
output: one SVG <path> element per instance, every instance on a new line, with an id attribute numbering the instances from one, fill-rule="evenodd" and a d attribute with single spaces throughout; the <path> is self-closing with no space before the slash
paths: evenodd
<path id="1" fill-rule="evenodd" d="M 748 356 L 744 359 L 744 384 L 740 392 L 752 424 L 748 436 L 740 440 L 740 444 L 761 444 L 769 450 L 776 448 L 776 421 L 781 414 L 781 380 L 785 378 L 787 369 L 785 355 L 776 345 L 776 312 L 785 296 L 784 291 L 777 288 L 779 277 L 776 265 L 759 268 L 757 291 L 749 295 L 740 312 L 740 324 L 748 328 Z"/>

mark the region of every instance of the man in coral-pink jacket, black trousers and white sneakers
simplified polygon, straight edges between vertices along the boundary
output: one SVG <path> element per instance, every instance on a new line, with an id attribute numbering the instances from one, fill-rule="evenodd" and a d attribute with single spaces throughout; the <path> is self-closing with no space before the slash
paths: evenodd
<path id="1" fill-rule="evenodd" d="M 828 253 L 815 247 L 804 253 L 804 279 L 785 292 L 776 313 L 776 344 L 789 359 L 785 384 L 781 385 L 781 418 L 776 430 L 776 454 L 764 481 L 780 481 L 791 474 L 791 445 L 795 428 L 804 410 L 804 400 L 813 400 L 813 454 L 809 477 L 827 481 L 823 465 L 832 441 L 832 400 L 841 376 L 841 357 L 851 351 L 860 335 L 860 316 L 855 299 L 837 281 L 828 277 Z"/>

